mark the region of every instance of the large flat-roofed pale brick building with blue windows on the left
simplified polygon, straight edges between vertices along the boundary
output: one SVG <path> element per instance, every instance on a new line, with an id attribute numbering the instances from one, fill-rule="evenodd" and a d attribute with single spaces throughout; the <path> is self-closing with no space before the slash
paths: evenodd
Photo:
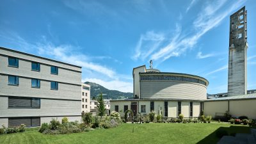
<path id="1" fill-rule="evenodd" d="M 0 47 L 0 87 L 0 127 L 81 120 L 79 66 Z"/>

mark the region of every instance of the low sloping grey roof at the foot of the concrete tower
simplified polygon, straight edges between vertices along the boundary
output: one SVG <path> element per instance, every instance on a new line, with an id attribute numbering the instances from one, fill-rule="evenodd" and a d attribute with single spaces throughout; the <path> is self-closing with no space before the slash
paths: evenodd
<path id="1" fill-rule="evenodd" d="M 240 99 L 256 99 L 256 93 L 247 94 L 247 95 L 236 95 L 230 97 L 220 97 L 220 98 L 213 98 L 207 99 L 205 101 L 214 101 L 214 100 L 240 100 Z"/>

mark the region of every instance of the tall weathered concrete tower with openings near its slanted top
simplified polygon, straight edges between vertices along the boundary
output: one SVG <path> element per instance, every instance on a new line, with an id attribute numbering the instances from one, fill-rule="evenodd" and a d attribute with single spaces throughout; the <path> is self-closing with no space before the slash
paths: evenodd
<path id="1" fill-rule="evenodd" d="M 247 11 L 230 15 L 228 96 L 247 93 Z"/>

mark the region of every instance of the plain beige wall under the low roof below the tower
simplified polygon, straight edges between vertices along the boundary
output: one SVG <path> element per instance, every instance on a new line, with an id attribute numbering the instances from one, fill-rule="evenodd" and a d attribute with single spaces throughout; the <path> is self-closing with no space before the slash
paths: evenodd
<path id="1" fill-rule="evenodd" d="M 205 115 L 216 116 L 216 113 L 225 113 L 228 111 L 228 100 L 221 101 L 205 101 Z M 248 118 L 256 119 L 256 100 L 230 100 L 229 111 L 232 116 L 248 116 Z"/>

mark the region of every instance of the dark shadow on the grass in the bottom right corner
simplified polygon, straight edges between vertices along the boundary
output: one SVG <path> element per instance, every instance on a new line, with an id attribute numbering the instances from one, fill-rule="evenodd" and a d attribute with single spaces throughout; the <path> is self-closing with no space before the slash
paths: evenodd
<path id="1" fill-rule="evenodd" d="M 205 143 L 218 143 L 220 138 L 216 136 L 216 132 L 220 129 L 223 129 L 228 132 L 228 135 L 234 136 L 236 133 L 250 133 L 250 127 L 247 126 L 236 126 L 231 125 L 230 127 L 219 127 L 216 129 L 216 131 L 212 132 L 208 136 L 206 136 L 204 139 L 198 141 L 198 144 L 205 144 Z"/>

